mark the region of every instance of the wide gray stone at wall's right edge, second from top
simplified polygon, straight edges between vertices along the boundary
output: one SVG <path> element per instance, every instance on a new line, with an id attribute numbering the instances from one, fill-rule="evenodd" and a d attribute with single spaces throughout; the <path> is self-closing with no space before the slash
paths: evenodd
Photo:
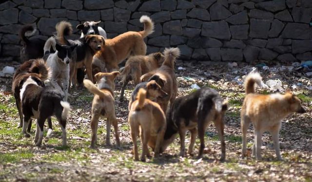
<path id="1" fill-rule="evenodd" d="M 282 32 L 283 38 L 309 39 L 310 27 L 303 23 L 287 23 Z"/>

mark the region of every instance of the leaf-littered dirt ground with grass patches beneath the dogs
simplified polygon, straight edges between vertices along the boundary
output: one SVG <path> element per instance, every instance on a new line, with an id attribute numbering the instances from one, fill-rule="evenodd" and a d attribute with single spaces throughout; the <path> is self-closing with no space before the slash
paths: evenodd
<path id="1" fill-rule="evenodd" d="M 274 63 L 274 64 L 273 64 Z M 112 146 L 105 142 L 106 122 L 101 119 L 98 130 L 98 147 L 90 149 L 91 103 L 93 95 L 85 88 L 70 91 L 71 113 L 67 124 L 68 147 L 61 147 L 61 132 L 53 119 L 54 135 L 35 147 L 33 138 L 36 125 L 33 122 L 31 137 L 22 137 L 14 97 L 10 94 L 12 78 L 0 77 L 0 181 L 40 182 L 94 182 L 94 181 L 312 181 L 312 92 L 311 77 L 307 70 L 294 70 L 291 64 L 267 63 L 259 67 L 264 82 L 279 79 L 282 89 L 291 88 L 307 109 L 305 114 L 292 114 L 282 121 L 280 131 L 281 153 L 284 161 L 277 161 L 271 135 L 263 135 L 262 157 L 257 162 L 252 156 L 241 157 L 240 108 L 245 97 L 243 76 L 253 65 L 238 66 L 177 62 L 178 96 L 190 93 L 193 84 L 216 89 L 223 99 L 228 99 L 229 109 L 225 119 L 226 161 L 220 163 L 220 142 L 215 126 L 211 124 L 205 133 L 205 150 L 202 159 L 196 159 L 199 139 L 195 144 L 195 156 L 179 157 L 179 137 L 157 159 L 136 162 L 132 155 L 132 142 L 127 123 L 128 101 L 133 89 L 129 84 L 125 101 L 118 100 L 120 79 L 116 81 L 116 113 L 119 119 L 121 147 L 115 147 L 114 131 Z M 2 70 L 4 64 L 0 65 Z M 10 66 L 18 67 L 16 63 Z M 282 90 L 281 89 L 281 90 Z M 257 88 L 268 94 L 270 88 Z M 45 134 L 44 134 L 45 136 Z M 187 134 L 188 146 L 190 133 Z M 139 141 L 139 140 L 138 140 Z M 254 142 L 253 127 L 248 134 L 248 149 Z M 140 149 L 140 144 L 139 144 Z M 141 153 L 141 149 L 139 150 Z"/>

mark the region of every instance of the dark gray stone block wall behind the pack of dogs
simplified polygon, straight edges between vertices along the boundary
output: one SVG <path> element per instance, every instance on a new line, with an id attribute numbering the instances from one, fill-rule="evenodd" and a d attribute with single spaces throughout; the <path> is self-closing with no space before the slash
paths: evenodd
<path id="1" fill-rule="evenodd" d="M 46 38 L 60 20 L 74 27 L 102 20 L 112 38 L 140 31 L 142 15 L 155 22 L 148 52 L 171 46 L 183 60 L 312 59 L 312 0 L 8 0 L 0 4 L 0 59 L 19 57 L 23 24 Z"/>

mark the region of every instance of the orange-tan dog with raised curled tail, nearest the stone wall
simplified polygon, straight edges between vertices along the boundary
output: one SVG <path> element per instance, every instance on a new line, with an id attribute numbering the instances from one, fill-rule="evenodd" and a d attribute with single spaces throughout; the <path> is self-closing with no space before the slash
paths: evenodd
<path id="1" fill-rule="evenodd" d="M 154 32 L 154 23 L 148 16 L 142 16 L 140 22 L 144 23 L 144 30 L 140 32 L 126 32 L 113 39 L 106 39 L 105 45 L 93 57 L 92 67 L 104 72 L 118 70 L 118 64 L 130 55 L 145 55 L 146 44 L 144 38 Z M 95 72 L 93 72 L 95 74 Z"/>

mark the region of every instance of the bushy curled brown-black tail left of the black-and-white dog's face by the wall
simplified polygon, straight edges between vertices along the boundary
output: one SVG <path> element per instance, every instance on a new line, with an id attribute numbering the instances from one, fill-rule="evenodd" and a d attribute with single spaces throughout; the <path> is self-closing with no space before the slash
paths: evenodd
<path id="1" fill-rule="evenodd" d="M 65 36 L 71 35 L 73 33 L 72 24 L 68 21 L 61 21 L 55 26 L 55 29 L 57 30 L 57 39 L 59 44 L 69 45 L 69 42 Z"/>

